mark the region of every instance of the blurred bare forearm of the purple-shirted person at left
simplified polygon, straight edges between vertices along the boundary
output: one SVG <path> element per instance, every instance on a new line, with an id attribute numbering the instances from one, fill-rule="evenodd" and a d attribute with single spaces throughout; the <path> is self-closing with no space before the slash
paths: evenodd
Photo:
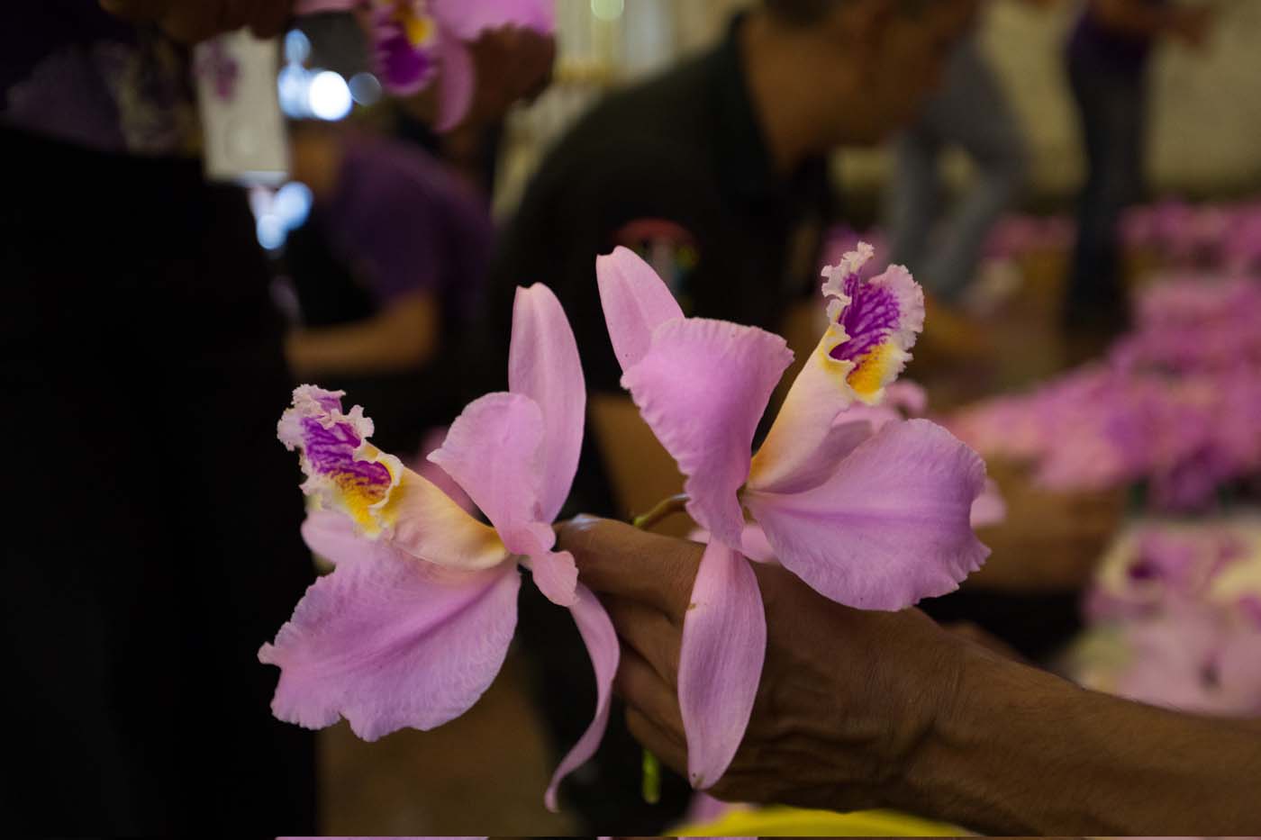
<path id="1" fill-rule="evenodd" d="M 289 365 L 300 377 L 320 373 L 387 373 L 417 367 L 439 346 L 441 318 L 427 291 L 395 298 L 366 320 L 298 329 L 285 342 Z"/>

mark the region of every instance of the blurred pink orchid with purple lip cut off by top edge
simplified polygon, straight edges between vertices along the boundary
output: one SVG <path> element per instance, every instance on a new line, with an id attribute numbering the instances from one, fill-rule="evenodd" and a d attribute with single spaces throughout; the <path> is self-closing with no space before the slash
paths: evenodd
<path id="1" fill-rule="evenodd" d="M 372 25 L 377 73 L 400 96 L 438 82 L 439 131 L 459 125 L 473 103 L 477 72 L 468 44 L 482 33 L 520 26 L 549 34 L 555 0 L 299 0 L 296 14 L 364 9 Z"/>

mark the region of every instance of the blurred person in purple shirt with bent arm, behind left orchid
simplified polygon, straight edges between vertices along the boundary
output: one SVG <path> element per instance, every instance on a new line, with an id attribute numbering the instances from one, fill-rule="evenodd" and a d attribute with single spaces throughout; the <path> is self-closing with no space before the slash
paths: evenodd
<path id="1" fill-rule="evenodd" d="M 314 204 L 285 246 L 301 310 L 289 362 L 373 406 L 378 445 L 416 453 L 463 407 L 459 351 L 494 243 L 488 201 L 410 143 L 298 124 L 291 146 Z"/>

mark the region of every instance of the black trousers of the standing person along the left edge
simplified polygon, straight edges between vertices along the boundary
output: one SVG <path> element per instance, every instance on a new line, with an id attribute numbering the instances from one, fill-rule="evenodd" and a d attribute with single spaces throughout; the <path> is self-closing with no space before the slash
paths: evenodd
<path id="1" fill-rule="evenodd" d="M 0 179 L 8 824 L 313 834 L 256 660 L 313 575 L 243 197 L 11 131 Z"/>

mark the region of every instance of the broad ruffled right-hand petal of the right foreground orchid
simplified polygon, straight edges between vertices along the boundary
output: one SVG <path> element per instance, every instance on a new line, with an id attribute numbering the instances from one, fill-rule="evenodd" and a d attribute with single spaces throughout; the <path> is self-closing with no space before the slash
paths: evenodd
<path id="1" fill-rule="evenodd" d="M 985 464 L 927 420 L 885 426 L 820 487 L 748 493 L 776 557 L 832 600 L 903 609 L 958 588 L 989 550 L 972 534 Z"/>

